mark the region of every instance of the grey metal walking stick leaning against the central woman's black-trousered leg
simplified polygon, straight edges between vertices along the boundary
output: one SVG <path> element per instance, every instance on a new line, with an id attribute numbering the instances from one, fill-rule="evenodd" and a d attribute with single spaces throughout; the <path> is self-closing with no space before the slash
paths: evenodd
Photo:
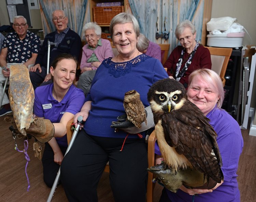
<path id="1" fill-rule="evenodd" d="M 66 154 L 67 154 L 67 153 L 69 152 L 69 150 L 71 149 L 71 147 L 72 147 L 72 145 L 73 145 L 73 143 L 74 143 L 74 141 L 75 141 L 76 135 L 77 135 L 77 133 L 78 133 L 78 131 L 79 131 L 79 129 L 80 129 L 80 126 L 81 126 L 82 122 L 83 122 L 83 116 L 78 116 L 78 117 L 77 117 L 77 127 L 76 127 L 75 130 L 74 130 L 74 133 L 73 133 L 73 135 L 72 135 L 72 137 L 71 137 L 70 143 L 69 143 L 69 145 L 68 145 L 67 151 L 66 151 L 66 153 L 65 153 L 64 156 L 66 156 Z M 47 199 L 46 202 L 51 202 L 51 200 L 52 200 L 52 198 L 53 198 L 53 195 L 54 195 L 54 192 L 55 192 L 55 189 L 57 188 L 57 185 L 58 185 L 58 183 L 59 183 L 59 178 L 60 178 L 60 167 L 59 167 L 59 171 L 58 171 L 57 176 L 56 176 L 56 178 L 55 178 L 55 180 L 54 180 L 54 183 L 53 183 L 51 192 L 50 192 L 50 194 L 49 194 L 48 199 Z"/>

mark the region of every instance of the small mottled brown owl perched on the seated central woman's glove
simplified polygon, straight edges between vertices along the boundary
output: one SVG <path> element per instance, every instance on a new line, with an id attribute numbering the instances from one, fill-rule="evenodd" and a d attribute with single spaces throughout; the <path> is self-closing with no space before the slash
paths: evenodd
<path id="1" fill-rule="evenodd" d="M 127 119 L 136 127 L 141 128 L 141 123 L 144 121 L 147 124 L 147 115 L 144 105 L 140 100 L 140 94 L 136 90 L 131 90 L 125 93 L 124 108 L 127 114 Z"/>

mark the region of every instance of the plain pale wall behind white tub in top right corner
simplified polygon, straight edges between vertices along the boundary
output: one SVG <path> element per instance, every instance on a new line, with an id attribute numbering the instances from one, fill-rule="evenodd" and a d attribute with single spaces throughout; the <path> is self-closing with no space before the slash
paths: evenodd
<path id="1" fill-rule="evenodd" d="M 207 1 L 207 0 L 205 0 Z M 256 22 L 255 22 L 256 0 L 213 0 L 212 18 L 235 17 L 237 23 L 244 26 L 248 34 L 243 38 L 243 45 L 256 45 Z"/>

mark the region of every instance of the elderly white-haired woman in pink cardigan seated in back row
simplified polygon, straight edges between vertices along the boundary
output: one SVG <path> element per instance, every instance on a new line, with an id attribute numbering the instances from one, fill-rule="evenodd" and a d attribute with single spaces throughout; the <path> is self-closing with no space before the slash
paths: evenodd
<path id="1" fill-rule="evenodd" d="M 97 68 L 104 59 L 113 58 L 114 54 L 110 41 L 100 38 L 101 27 L 95 22 L 86 23 L 82 33 L 85 33 L 87 44 L 83 47 L 80 64 L 81 75 L 77 88 L 82 89 L 84 94 L 87 95 Z"/>

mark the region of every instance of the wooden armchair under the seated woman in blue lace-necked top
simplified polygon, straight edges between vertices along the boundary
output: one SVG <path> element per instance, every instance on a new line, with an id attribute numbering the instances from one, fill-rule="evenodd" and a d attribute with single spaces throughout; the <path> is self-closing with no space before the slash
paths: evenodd
<path id="1" fill-rule="evenodd" d="M 73 119 L 71 119 L 67 123 L 67 139 L 68 139 L 68 144 L 71 140 L 71 137 L 73 135 L 73 130 L 71 130 Z M 151 133 L 150 137 L 148 138 L 148 167 L 154 166 L 155 165 L 155 142 L 156 142 L 156 137 L 155 137 L 155 130 Z M 108 163 L 106 164 L 104 168 L 104 172 L 109 173 L 109 165 Z M 155 187 L 155 184 L 152 183 L 153 180 L 153 174 L 148 172 L 148 181 L 147 181 L 147 202 L 152 202 L 153 200 L 153 190 Z"/>

